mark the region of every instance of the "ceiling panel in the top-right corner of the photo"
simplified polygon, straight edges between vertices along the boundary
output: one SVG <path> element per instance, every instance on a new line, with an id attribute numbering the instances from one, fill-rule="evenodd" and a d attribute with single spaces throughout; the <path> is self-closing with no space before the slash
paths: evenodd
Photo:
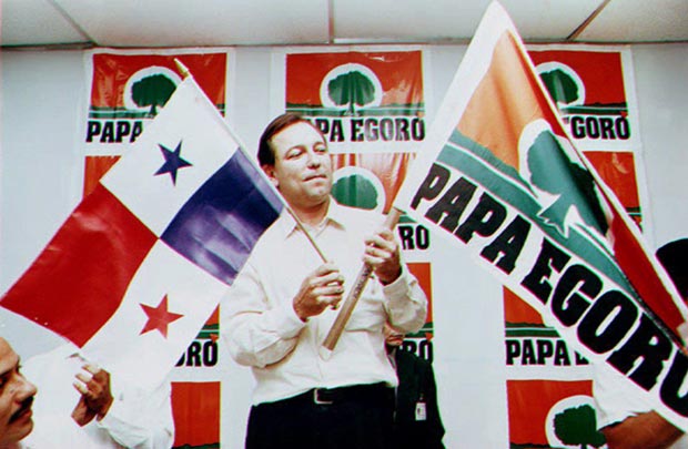
<path id="1" fill-rule="evenodd" d="M 578 40 L 687 41 L 688 0 L 611 0 Z"/>

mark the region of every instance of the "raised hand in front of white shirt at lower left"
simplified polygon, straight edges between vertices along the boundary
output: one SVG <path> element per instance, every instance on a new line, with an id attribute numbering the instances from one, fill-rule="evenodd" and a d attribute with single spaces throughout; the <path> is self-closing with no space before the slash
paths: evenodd
<path id="1" fill-rule="evenodd" d="M 84 365 L 77 374 L 74 388 L 81 392 L 79 404 L 72 411 L 72 418 L 79 426 L 85 426 L 95 417 L 102 419 L 112 405 L 110 391 L 110 373 L 93 365 Z"/>

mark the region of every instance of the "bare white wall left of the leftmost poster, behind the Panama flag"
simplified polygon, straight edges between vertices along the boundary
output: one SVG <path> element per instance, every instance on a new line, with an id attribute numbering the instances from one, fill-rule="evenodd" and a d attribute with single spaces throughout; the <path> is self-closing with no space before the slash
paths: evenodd
<path id="1" fill-rule="evenodd" d="M 81 198 L 78 146 L 82 52 L 3 52 L 0 146 L 0 290 L 33 262 Z M 4 314 L 4 315 L 2 315 Z M 0 335 L 18 354 L 48 349 L 50 333 L 27 336 L 0 313 Z"/>

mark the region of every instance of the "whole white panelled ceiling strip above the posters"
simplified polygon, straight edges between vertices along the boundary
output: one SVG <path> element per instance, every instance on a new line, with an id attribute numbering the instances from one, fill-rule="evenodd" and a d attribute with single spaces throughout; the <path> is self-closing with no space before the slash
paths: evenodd
<path id="1" fill-rule="evenodd" d="M 467 42 L 489 0 L 0 0 L 3 47 Z M 688 0 L 502 0 L 526 42 L 688 41 Z"/>

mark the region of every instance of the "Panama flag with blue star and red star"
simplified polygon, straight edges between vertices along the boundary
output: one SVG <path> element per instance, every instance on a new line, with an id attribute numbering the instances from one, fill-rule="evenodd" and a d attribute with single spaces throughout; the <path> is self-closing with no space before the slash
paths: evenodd
<path id="1" fill-rule="evenodd" d="M 153 387 L 282 208 L 189 76 L 0 305 Z"/>

